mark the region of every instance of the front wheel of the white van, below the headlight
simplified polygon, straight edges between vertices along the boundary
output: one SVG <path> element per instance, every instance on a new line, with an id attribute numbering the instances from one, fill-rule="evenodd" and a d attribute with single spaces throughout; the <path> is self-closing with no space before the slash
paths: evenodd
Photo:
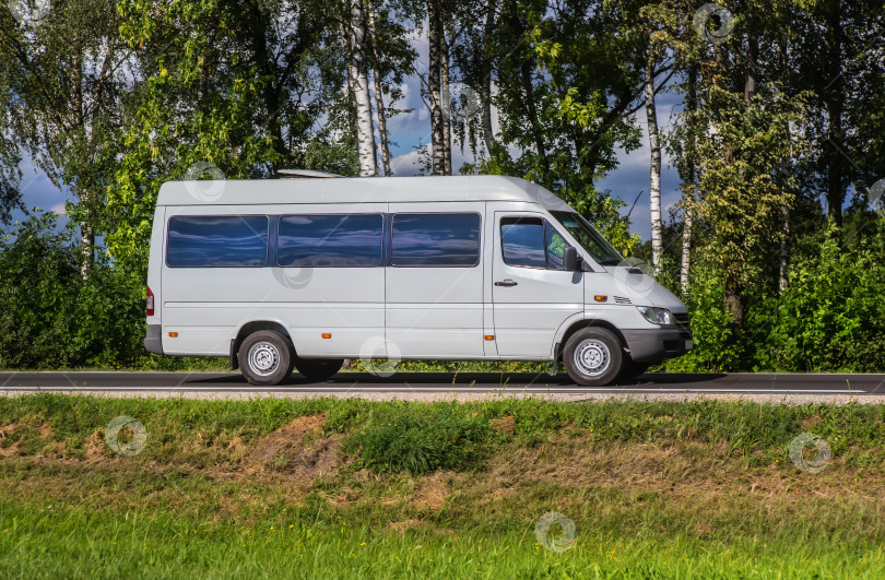
<path id="1" fill-rule="evenodd" d="M 624 362 L 621 341 L 612 331 L 590 327 L 566 342 L 563 362 L 568 376 L 582 387 L 601 387 L 617 379 Z"/>

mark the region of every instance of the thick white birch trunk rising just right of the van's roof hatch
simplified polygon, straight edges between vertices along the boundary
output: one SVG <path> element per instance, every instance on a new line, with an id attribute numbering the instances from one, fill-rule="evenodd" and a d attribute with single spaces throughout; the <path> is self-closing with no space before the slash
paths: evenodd
<path id="1" fill-rule="evenodd" d="M 378 173 L 375 159 L 375 129 L 371 122 L 371 97 L 366 68 L 366 21 L 363 0 L 350 0 L 350 52 L 347 74 L 353 76 L 353 93 L 356 104 L 356 146 L 359 156 L 359 175 L 369 177 Z"/>

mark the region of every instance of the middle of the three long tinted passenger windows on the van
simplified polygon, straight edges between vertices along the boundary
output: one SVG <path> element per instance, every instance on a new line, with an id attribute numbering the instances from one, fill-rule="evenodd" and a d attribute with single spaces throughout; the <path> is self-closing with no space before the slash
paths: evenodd
<path id="1" fill-rule="evenodd" d="M 381 214 L 283 215 L 276 264 L 282 267 L 381 265 Z"/>

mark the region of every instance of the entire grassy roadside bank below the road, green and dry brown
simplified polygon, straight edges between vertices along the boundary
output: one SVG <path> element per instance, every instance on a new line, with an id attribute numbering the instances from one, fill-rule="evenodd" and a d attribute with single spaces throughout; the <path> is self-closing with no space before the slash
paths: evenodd
<path id="1" fill-rule="evenodd" d="M 885 573 L 883 406 L 40 394 L 0 417 L 4 577 Z"/>

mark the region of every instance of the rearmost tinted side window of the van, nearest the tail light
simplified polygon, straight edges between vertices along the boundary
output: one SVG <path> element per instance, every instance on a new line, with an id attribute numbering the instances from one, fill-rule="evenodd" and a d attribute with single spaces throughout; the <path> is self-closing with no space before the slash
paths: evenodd
<path id="1" fill-rule="evenodd" d="M 268 263 L 267 215 L 176 215 L 169 218 L 169 268 L 261 268 Z"/>

